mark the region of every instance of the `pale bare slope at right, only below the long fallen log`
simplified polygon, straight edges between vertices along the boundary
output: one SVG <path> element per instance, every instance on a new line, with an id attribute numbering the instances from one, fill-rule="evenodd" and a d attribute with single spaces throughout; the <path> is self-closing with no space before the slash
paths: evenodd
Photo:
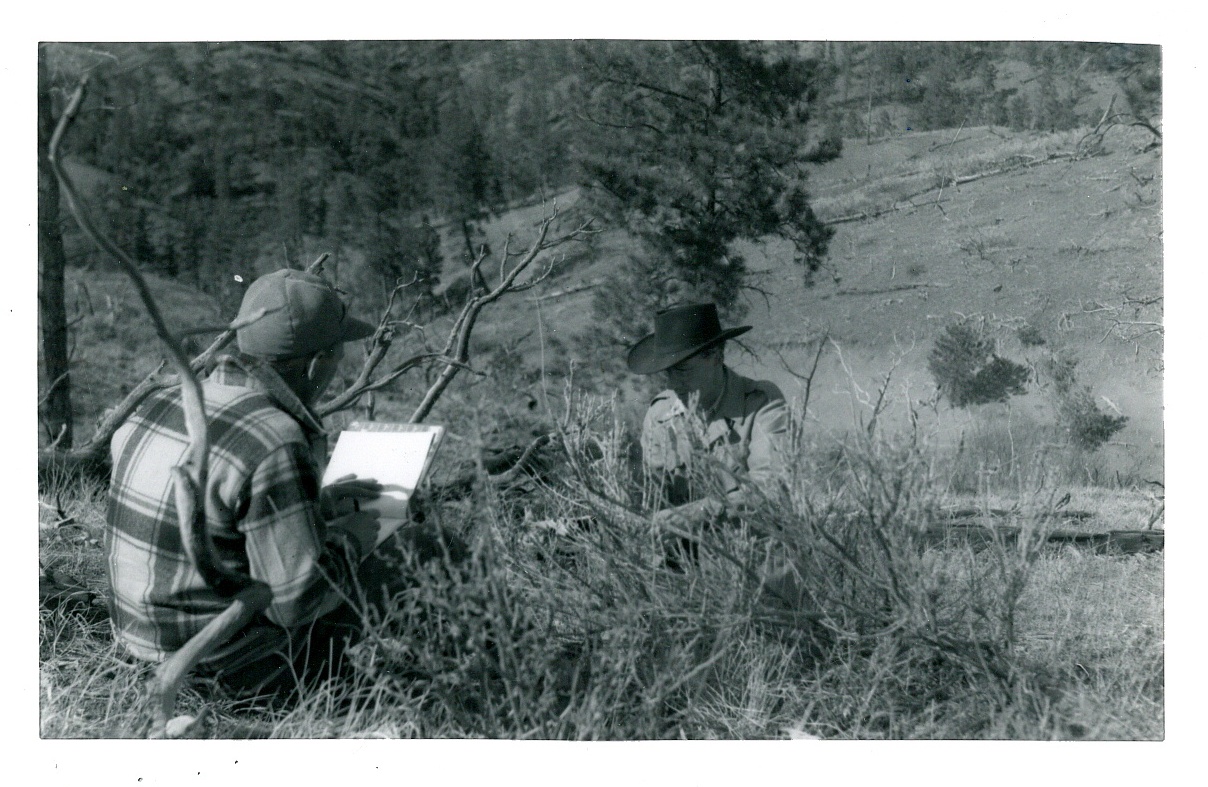
<path id="1" fill-rule="evenodd" d="M 836 278 L 813 289 L 796 285 L 783 250 L 766 248 L 761 287 L 773 295 L 767 306 L 753 301 L 756 335 L 765 347 L 791 349 L 826 332 L 860 383 L 901 357 L 896 378 L 923 393 L 931 386 L 925 357 L 945 325 L 985 320 L 1016 359 L 1038 354 L 1018 340 L 1027 325 L 1045 348 L 1076 355 L 1082 382 L 1131 417 L 1121 440 L 1156 445 L 1158 337 L 1125 341 L 1111 319 L 1160 319 L 1119 307 L 1161 295 L 1161 157 L 1137 152 L 1144 140 L 1116 141 L 1103 156 L 936 189 L 916 207 L 840 225 L 829 260 Z M 798 366 L 802 353 L 786 358 Z M 768 360 L 753 363 L 774 375 Z M 835 365 L 824 368 L 821 393 L 838 384 Z"/>

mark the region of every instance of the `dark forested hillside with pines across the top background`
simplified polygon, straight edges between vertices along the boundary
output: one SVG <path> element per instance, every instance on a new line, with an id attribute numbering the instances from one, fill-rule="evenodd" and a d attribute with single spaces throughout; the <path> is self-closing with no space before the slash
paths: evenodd
<path id="1" fill-rule="evenodd" d="M 72 170 L 122 248 L 219 314 L 256 274 L 321 251 L 366 307 L 414 278 L 408 297 L 437 313 L 474 256 L 499 250 L 500 216 L 562 195 L 605 231 L 590 254 L 611 259 L 593 291 L 606 346 L 632 338 L 632 312 L 681 297 L 741 318 L 744 242 L 789 242 L 802 291 L 820 270 L 842 276 L 827 193 L 846 186 L 815 170 L 850 160 L 844 139 L 1053 132 L 1161 110 L 1157 48 L 1127 45 L 52 44 L 40 58 L 43 144 L 88 75 Z M 849 174 L 873 178 L 875 163 Z M 48 438 L 72 407 L 57 271 L 111 261 L 48 198 L 45 172 L 40 190 Z"/>

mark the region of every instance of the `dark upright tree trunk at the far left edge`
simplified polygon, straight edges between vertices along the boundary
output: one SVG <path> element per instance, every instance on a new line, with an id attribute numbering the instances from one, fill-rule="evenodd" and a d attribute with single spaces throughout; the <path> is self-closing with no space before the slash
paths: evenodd
<path id="1" fill-rule="evenodd" d="M 47 386 L 42 418 L 59 446 L 71 447 L 71 377 L 68 369 L 66 254 L 59 228 L 59 184 L 47 158 L 54 132 L 46 54 L 37 52 L 37 312 Z"/>

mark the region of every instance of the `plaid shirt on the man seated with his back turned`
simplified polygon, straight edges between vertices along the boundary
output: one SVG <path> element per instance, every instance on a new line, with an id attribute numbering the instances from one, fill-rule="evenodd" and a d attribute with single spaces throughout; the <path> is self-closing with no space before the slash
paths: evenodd
<path id="1" fill-rule="evenodd" d="M 335 609 L 354 588 L 359 546 L 318 513 L 325 435 L 272 369 L 225 357 L 202 384 L 209 423 L 205 517 L 220 559 L 266 583 L 269 607 L 220 648 L 254 658 Z M 226 609 L 180 537 L 170 469 L 188 445 L 180 388 L 147 397 L 114 435 L 105 530 L 115 636 L 159 661 Z M 248 653 L 248 649 L 256 653 Z"/>

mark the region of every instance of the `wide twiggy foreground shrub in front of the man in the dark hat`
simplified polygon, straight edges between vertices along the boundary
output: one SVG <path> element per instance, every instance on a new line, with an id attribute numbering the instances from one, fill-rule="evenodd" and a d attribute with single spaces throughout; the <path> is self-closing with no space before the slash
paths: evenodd
<path id="1" fill-rule="evenodd" d="M 937 704 L 1016 707 L 1043 516 L 1017 543 L 936 543 L 917 439 L 821 450 L 794 426 L 783 486 L 679 542 L 638 513 L 651 487 L 615 410 L 577 403 L 565 471 L 511 515 L 475 507 L 476 559 L 395 598 L 360 648 L 366 682 L 418 707 L 422 736 L 893 737 Z"/>

